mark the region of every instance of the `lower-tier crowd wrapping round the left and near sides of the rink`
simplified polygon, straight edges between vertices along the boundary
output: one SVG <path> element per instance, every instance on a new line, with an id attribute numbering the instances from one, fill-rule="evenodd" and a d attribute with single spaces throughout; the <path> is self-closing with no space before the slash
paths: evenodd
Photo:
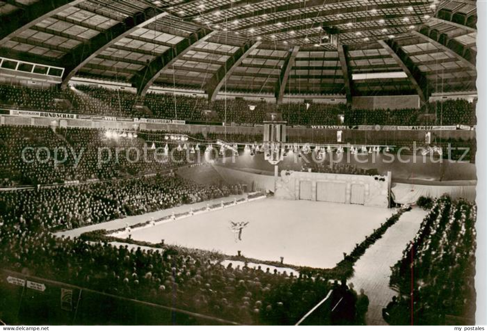
<path id="1" fill-rule="evenodd" d="M 0 263 L 12 271 L 238 323 L 296 323 L 332 288 L 328 279 L 224 267 L 224 257 L 214 252 L 129 249 L 50 233 L 229 193 L 226 187 L 168 176 L 0 192 Z M 340 301 L 340 307 L 325 310 L 320 322 L 357 323 L 356 298 L 348 294 L 353 289 L 337 283 L 334 288 L 333 302 Z M 341 290 L 350 302 L 340 300 Z"/>

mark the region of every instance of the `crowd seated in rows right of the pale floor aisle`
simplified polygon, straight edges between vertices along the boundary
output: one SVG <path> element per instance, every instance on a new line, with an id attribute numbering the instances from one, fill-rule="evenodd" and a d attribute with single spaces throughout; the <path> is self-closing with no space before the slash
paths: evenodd
<path id="1" fill-rule="evenodd" d="M 464 200 L 434 201 L 392 268 L 391 286 L 399 294 L 383 311 L 387 322 L 474 324 L 476 214 L 476 206 Z"/>

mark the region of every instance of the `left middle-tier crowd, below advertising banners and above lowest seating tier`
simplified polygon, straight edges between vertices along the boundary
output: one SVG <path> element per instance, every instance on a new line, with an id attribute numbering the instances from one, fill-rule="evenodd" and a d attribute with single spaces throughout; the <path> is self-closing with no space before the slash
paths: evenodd
<path id="1" fill-rule="evenodd" d="M 0 186 L 110 180 L 153 174 L 197 161 L 183 147 L 178 151 L 178 145 L 184 144 L 169 143 L 168 156 L 161 156 L 161 150 L 156 155 L 142 136 L 128 133 L 107 137 L 104 129 L 55 131 L 48 127 L 3 125 Z"/>

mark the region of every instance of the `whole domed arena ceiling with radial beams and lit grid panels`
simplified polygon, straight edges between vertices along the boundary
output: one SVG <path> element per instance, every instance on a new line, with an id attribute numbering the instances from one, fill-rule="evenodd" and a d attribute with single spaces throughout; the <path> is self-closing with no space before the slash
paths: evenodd
<path id="1" fill-rule="evenodd" d="M 349 103 L 475 89 L 469 0 L 0 0 L 0 19 L 0 56 L 62 66 L 63 86 L 86 77 L 140 95 L 159 86 Z"/>

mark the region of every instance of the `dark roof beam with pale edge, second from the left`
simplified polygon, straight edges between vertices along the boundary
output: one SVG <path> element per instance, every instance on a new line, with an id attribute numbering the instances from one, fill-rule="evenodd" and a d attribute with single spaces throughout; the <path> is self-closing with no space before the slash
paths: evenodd
<path id="1" fill-rule="evenodd" d="M 137 16 L 137 19 L 128 19 L 125 24 L 115 24 L 106 33 L 100 33 L 94 37 L 94 39 L 91 39 L 88 45 L 80 44 L 72 53 L 67 54 L 65 59 L 60 62 L 67 63 L 61 87 L 66 87 L 70 79 L 73 78 L 83 66 L 98 56 L 98 54 L 102 53 L 122 38 L 127 37 L 137 29 L 167 15 L 169 14 L 166 12 L 156 15 L 153 9 L 151 9 L 148 13 Z"/>

